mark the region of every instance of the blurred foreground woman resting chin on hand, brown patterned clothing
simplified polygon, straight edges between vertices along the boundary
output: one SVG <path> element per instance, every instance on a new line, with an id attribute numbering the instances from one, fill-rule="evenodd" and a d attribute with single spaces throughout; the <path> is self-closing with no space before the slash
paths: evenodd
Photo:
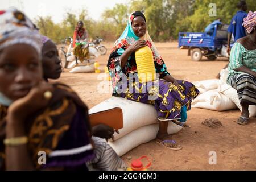
<path id="1" fill-rule="evenodd" d="M 87 169 L 94 153 L 86 105 L 67 85 L 44 82 L 31 20 L 15 9 L 0 19 L 0 169 Z"/>

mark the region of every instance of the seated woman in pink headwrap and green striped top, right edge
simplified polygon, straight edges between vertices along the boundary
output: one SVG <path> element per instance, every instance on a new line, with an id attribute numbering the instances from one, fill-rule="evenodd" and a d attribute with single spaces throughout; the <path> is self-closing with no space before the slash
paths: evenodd
<path id="1" fill-rule="evenodd" d="M 256 105 L 256 11 L 250 11 L 243 19 L 247 36 L 234 43 L 229 59 L 227 83 L 237 90 L 242 106 L 240 125 L 249 121 L 249 105 Z"/>

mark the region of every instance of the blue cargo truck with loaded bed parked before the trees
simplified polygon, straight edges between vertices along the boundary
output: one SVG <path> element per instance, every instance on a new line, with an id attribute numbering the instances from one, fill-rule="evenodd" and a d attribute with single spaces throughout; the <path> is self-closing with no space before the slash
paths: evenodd
<path id="1" fill-rule="evenodd" d="M 215 25 L 211 36 L 205 32 L 179 32 L 179 48 L 188 49 L 188 56 L 191 56 L 193 61 L 200 61 L 203 56 L 208 60 L 229 57 L 226 52 L 228 26 L 228 24 Z"/>

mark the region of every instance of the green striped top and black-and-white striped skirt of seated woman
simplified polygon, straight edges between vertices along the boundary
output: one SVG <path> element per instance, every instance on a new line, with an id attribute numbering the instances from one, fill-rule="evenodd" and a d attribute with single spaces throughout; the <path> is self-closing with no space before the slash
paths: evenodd
<path id="1" fill-rule="evenodd" d="M 240 104 L 246 102 L 256 105 L 256 78 L 234 70 L 242 66 L 256 72 L 256 49 L 247 50 L 242 44 L 234 43 L 230 53 L 227 83 L 237 90 Z"/>

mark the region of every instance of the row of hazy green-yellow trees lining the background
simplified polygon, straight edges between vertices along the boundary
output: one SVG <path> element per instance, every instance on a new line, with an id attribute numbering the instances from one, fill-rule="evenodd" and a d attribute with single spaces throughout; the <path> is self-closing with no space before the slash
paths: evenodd
<path id="1" fill-rule="evenodd" d="M 239 0 L 131 0 L 129 4 L 119 3 L 102 13 L 102 20 L 94 21 L 88 11 L 67 10 L 61 23 L 54 23 L 51 17 L 38 17 L 36 25 L 43 35 L 60 43 L 73 31 L 82 20 L 90 38 L 101 36 L 105 40 L 116 40 L 125 30 L 128 16 L 133 11 L 142 11 L 146 16 L 147 28 L 154 41 L 177 39 L 179 32 L 204 31 L 213 20 L 222 18 L 229 24 L 236 14 Z M 255 11 L 255 0 L 247 0 L 248 10 Z M 217 16 L 209 16 L 209 4 L 216 3 Z M 76 13 L 73 13 L 76 12 Z"/>

